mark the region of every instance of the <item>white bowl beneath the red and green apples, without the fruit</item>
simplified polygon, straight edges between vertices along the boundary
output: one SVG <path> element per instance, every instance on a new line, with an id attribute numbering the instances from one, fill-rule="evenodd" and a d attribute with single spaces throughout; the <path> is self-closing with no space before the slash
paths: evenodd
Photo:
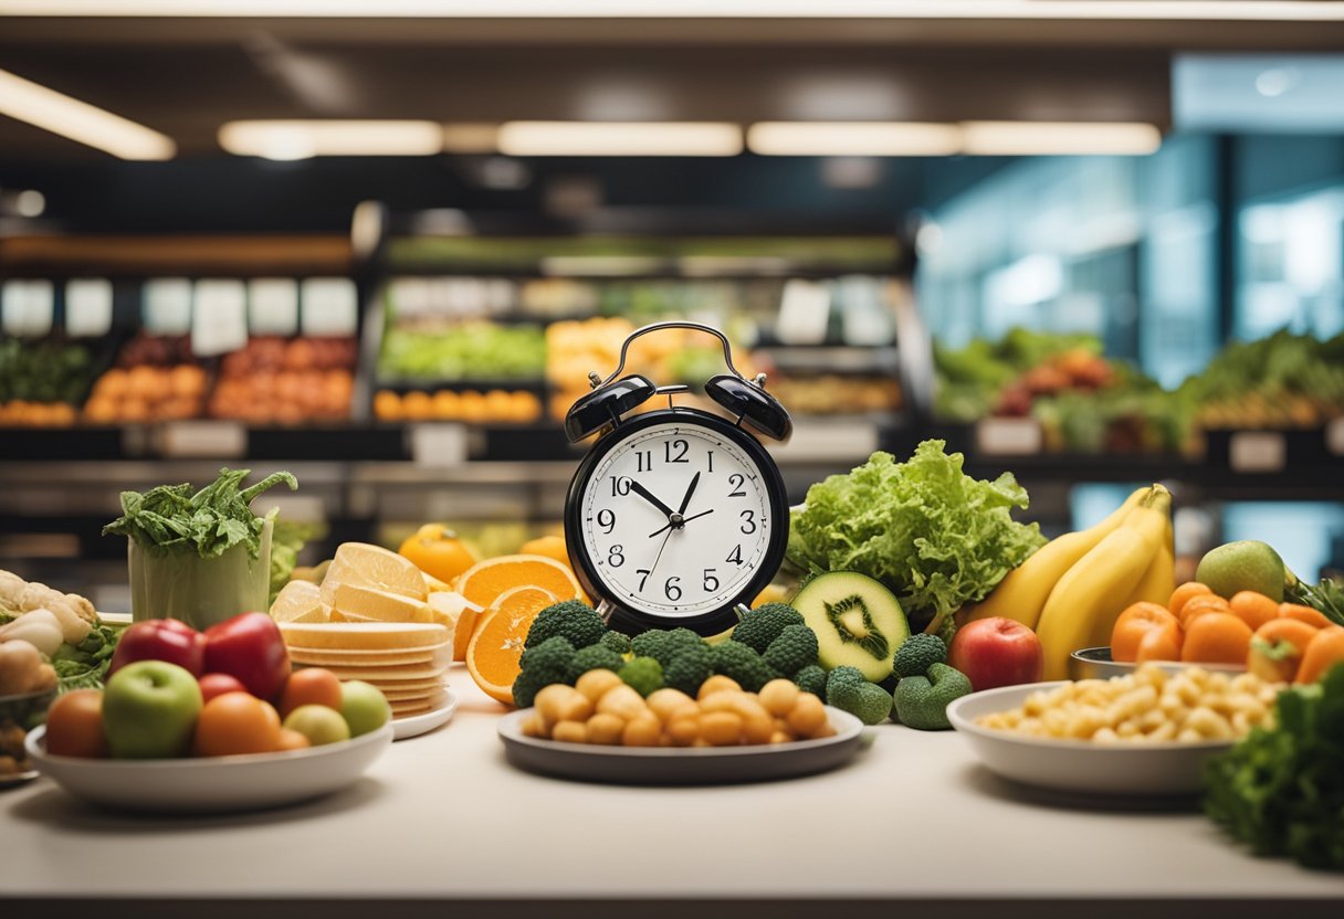
<path id="1" fill-rule="evenodd" d="M 392 726 L 308 750 L 204 759 L 82 759 L 26 740 L 38 771 L 77 798 L 122 810 L 239 812 L 316 798 L 355 783 L 392 743 Z"/>

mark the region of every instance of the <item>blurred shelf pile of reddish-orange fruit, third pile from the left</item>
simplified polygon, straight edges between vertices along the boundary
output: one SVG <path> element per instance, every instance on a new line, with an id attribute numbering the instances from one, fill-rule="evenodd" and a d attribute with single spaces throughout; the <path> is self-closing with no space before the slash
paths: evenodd
<path id="1" fill-rule="evenodd" d="M 220 361 L 207 414 L 255 425 L 345 421 L 358 355 L 355 339 L 251 339 Z"/>

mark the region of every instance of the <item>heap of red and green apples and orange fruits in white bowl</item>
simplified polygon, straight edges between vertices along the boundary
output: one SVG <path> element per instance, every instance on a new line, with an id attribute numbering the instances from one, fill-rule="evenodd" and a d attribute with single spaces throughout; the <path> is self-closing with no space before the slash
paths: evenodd
<path id="1" fill-rule="evenodd" d="M 390 716 L 367 684 L 292 672 L 280 629 L 263 613 L 203 633 L 148 619 L 126 629 L 105 689 L 52 704 L 46 744 L 55 756 L 114 759 L 267 754 L 348 740 Z"/>

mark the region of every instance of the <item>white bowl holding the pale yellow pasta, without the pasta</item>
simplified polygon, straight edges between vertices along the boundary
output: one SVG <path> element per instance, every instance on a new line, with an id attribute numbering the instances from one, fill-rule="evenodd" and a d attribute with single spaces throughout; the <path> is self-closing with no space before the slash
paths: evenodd
<path id="1" fill-rule="evenodd" d="M 1230 740 L 1145 744 L 1052 740 L 974 723 L 981 715 L 1017 708 L 1031 693 L 1064 683 L 973 692 L 948 705 L 948 720 L 991 771 L 1024 785 L 1083 794 L 1192 794 L 1202 786 L 1204 762 L 1232 746 Z"/>

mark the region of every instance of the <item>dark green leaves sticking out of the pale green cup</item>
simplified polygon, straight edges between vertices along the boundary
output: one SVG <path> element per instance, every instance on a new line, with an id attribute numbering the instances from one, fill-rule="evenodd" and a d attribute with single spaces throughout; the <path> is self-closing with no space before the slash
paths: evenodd
<path id="1" fill-rule="evenodd" d="M 190 482 L 160 485 L 144 494 L 122 492 L 122 516 L 103 527 L 102 533 L 128 536 L 149 554 L 196 552 L 214 559 L 235 545 L 246 545 L 255 559 L 261 555 L 266 519 L 251 512 L 251 500 L 281 482 L 294 490 L 298 480 L 277 472 L 239 489 L 250 474 L 251 469 L 220 469 L 219 478 L 196 493 Z"/>

